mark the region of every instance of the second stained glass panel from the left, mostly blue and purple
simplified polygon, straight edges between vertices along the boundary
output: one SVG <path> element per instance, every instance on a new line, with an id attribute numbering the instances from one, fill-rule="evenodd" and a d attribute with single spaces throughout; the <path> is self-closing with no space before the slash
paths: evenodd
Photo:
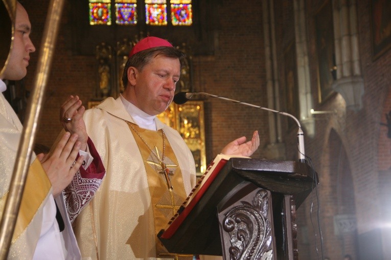
<path id="1" fill-rule="evenodd" d="M 137 23 L 137 0 L 116 0 L 116 23 Z"/>

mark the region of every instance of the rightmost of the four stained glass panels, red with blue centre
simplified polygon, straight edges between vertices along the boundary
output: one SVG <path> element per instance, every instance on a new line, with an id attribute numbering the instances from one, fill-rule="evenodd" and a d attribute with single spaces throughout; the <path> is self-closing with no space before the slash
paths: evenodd
<path id="1" fill-rule="evenodd" d="M 191 0 L 171 0 L 172 25 L 192 25 L 193 12 Z"/>

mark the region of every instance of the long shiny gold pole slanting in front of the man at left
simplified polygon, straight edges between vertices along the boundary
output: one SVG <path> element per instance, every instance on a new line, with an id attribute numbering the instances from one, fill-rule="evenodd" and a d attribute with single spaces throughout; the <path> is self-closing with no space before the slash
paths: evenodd
<path id="1" fill-rule="evenodd" d="M 3 2 L 6 1 L 11 2 L 10 0 L 3 0 Z M 13 2 L 15 3 L 15 1 Z M 3 211 L 3 218 L 0 223 L 0 259 L 7 258 L 11 245 L 16 217 L 19 211 L 21 197 L 25 188 L 27 172 L 30 166 L 36 127 L 42 109 L 41 104 L 44 90 L 48 82 L 48 76 L 52 64 L 63 3 L 63 0 L 51 0 L 49 4 L 49 13 L 45 21 L 41 48 L 38 56 L 34 88 L 31 95 L 31 101 L 27 108 L 26 124 L 20 139 L 16 155 L 17 160 L 15 162 L 10 189 Z"/>

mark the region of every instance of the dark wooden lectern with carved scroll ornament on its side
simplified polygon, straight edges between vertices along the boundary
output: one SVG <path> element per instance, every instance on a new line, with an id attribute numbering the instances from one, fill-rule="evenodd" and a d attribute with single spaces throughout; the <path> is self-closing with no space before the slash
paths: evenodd
<path id="1" fill-rule="evenodd" d="M 175 233 L 171 253 L 298 259 L 296 207 L 318 183 L 306 163 L 231 158 Z"/>

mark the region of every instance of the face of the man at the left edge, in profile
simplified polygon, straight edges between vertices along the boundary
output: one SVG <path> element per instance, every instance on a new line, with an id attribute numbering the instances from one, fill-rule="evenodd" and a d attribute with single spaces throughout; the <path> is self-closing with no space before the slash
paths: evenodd
<path id="1" fill-rule="evenodd" d="M 26 76 L 30 53 L 35 51 L 35 47 L 30 39 L 30 33 L 31 23 L 29 15 L 25 8 L 17 3 L 13 47 L 8 65 L 3 74 L 4 79 L 17 81 Z"/>

